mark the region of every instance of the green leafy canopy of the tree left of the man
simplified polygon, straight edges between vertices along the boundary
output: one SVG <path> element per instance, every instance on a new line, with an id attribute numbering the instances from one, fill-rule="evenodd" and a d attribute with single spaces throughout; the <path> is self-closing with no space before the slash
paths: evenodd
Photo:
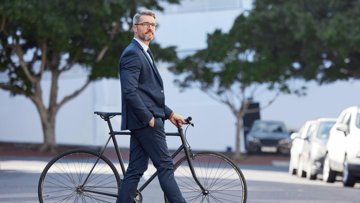
<path id="1" fill-rule="evenodd" d="M 46 70 L 63 70 L 64 64 L 80 64 L 90 69 L 90 80 L 102 77 L 118 77 L 118 60 L 129 45 L 132 33 L 132 17 L 139 7 L 162 8 L 159 0 L 5 0 L 0 5 L 0 71 L 9 74 L 14 89 L 33 93 L 33 83 L 23 73 L 11 44 L 21 44 L 30 72 L 41 77 L 39 66 L 42 54 L 46 54 Z M 178 0 L 168 0 L 179 3 Z M 46 53 L 41 53 L 43 43 Z M 101 60 L 100 52 L 107 47 Z M 157 59 L 176 60 L 173 47 L 161 49 L 166 52 Z M 35 56 L 32 53 L 35 51 Z M 68 56 L 68 58 L 64 57 Z M 28 57 L 29 58 L 29 57 Z M 33 58 L 33 59 L 32 59 Z"/>

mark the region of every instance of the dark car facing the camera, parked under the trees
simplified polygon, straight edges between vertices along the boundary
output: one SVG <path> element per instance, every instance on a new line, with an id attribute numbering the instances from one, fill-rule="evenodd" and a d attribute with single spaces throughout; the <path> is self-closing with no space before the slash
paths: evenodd
<path id="1" fill-rule="evenodd" d="M 282 121 L 255 120 L 246 137 L 248 153 L 290 152 L 291 139 Z"/>

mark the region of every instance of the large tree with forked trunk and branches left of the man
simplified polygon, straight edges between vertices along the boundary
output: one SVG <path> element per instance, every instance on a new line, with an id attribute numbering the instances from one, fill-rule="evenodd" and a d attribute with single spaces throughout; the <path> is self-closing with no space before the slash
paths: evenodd
<path id="1" fill-rule="evenodd" d="M 178 0 L 167 0 L 178 3 Z M 131 41 L 132 16 L 139 7 L 162 10 L 158 0 L 18 0 L 0 5 L 0 87 L 22 94 L 36 105 L 44 131 L 41 150 L 54 150 L 59 108 L 91 81 L 118 77 L 118 60 Z M 176 59 L 174 47 L 152 45 L 156 58 Z M 62 62 L 65 61 L 65 62 Z M 75 65 L 90 70 L 87 82 L 58 101 L 59 75 Z M 51 72 L 49 104 L 42 101 L 40 81 Z M 47 107 L 46 107 L 47 106 Z"/>

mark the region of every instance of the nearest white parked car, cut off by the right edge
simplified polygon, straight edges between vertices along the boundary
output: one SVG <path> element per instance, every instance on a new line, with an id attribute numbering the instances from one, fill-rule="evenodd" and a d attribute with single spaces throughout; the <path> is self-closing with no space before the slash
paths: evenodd
<path id="1" fill-rule="evenodd" d="M 346 186 L 360 178 L 360 106 L 344 109 L 330 130 L 323 180 L 334 182 L 337 174 Z"/>

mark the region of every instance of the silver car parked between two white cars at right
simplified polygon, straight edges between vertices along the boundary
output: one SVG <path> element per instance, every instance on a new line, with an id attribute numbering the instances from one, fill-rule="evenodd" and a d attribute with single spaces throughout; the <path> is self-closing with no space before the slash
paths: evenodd
<path id="1" fill-rule="evenodd" d="M 315 180 L 323 172 L 323 163 L 326 154 L 326 144 L 329 131 L 335 124 L 336 118 L 319 118 L 312 124 L 309 136 L 304 138 L 302 152 L 298 164 L 298 176 Z"/>

